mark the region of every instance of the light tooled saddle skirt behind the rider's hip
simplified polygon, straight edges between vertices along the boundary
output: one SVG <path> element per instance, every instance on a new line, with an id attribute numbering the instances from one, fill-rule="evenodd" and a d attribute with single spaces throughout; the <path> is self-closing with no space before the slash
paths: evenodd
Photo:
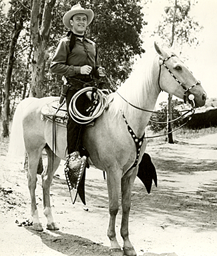
<path id="1" fill-rule="evenodd" d="M 64 103 L 63 106 L 59 108 L 59 99 L 45 104 L 41 108 L 41 120 L 43 119 L 48 119 L 49 121 L 55 119 L 57 125 L 66 127 L 68 119 L 66 104 Z"/>

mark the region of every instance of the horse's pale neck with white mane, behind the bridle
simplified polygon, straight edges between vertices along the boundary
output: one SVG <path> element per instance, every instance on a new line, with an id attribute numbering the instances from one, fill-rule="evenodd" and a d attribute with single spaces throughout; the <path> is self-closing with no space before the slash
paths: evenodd
<path id="1" fill-rule="evenodd" d="M 138 78 L 138 76 L 132 76 L 118 89 L 118 93 L 128 103 L 116 94 L 114 99 L 116 109 L 122 110 L 134 133 L 141 137 L 144 134 L 151 113 L 138 110 L 132 105 L 148 111 L 154 110 L 160 93 L 158 88 L 158 69 L 154 66 L 150 67 L 150 70 L 146 72 L 142 79 Z"/>

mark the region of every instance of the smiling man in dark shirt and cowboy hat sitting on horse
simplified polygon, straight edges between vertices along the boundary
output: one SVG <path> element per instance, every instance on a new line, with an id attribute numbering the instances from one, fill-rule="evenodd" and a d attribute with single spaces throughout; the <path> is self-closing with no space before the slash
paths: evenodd
<path id="1" fill-rule="evenodd" d="M 94 77 L 105 76 L 104 68 L 99 63 L 95 43 L 85 38 L 85 30 L 93 20 L 93 16 L 91 9 L 83 9 L 79 4 L 71 7 L 71 10 L 63 16 L 63 24 L 70 31 L 59 42 L 50 69 L 51 72 L 63 76 L 67 81 L 61 93 L 66 98 L 67 110 L 71 97 L 77 90 L 85 86 L 94 86 Z M 86 113 L 85 106 L 87 106 L 88 101 L 89 99 L 85 94 L 81 94 L 76 107 L 82 115 Z M 71 193 L 73 203 L 88 157 L 88 152 L 79 143 L 82 128 L 82 125 L 75 123 L 69 115 L 67 122 L 67 153 L 69 156 L 67 157 L 65 174 L 69 190 L 70 192 L 73 191 Z"/>

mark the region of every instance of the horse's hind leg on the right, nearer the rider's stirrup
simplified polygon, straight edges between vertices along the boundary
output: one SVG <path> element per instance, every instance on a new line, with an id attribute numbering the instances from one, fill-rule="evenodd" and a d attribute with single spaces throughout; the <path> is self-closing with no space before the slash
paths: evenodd
<path id="1" fill-rule="evenodd" d="M 47 168 L 41 174 L 43 188 L 43 213 L 47 217 L 47 229 L 51 231 L 57 231 L 59 228 L 53 221 L 49 194 L 51 182 L 53 180 L 53 174 L 59 166 L 60 158 L 53 154 L 53 151 L 51 151 L 48 146 L 45 147 L 45 150 L 47 152 Z"/>

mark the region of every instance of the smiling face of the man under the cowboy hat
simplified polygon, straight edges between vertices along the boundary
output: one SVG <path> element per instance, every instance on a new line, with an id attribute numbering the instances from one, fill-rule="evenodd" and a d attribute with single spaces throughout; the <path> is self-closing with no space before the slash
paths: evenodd
<path id="1" fill-rule="evenodd" d="M 83 35 L 87 27 L 87 16 L 85 14 L 75 14 L 70 20 L 75 34 Z"/>

